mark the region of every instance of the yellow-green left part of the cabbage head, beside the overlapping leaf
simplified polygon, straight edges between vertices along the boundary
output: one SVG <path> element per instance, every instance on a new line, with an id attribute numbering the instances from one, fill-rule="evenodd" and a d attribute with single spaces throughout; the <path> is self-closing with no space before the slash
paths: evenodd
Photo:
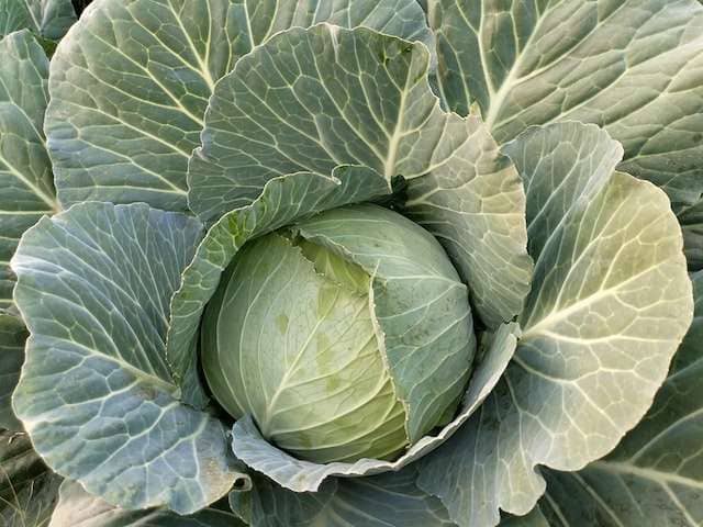
<path id="1" fill-rule="evenodd" d="M 412 410 L 389 368 L 376 279 L 344 247 L 300 233 L 247 244 L 203 317 L 203 369 L 216 400 L 235 418 L 252 415 L 267 440 L 299 459 L 397 458 L 411 444 Z"/>

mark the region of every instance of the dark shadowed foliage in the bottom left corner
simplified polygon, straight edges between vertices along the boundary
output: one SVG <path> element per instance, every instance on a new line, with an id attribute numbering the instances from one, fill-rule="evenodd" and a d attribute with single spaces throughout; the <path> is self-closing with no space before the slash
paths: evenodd
<path id="1" fill-rule="evenodd" d="M 8 527 L 46 527 L 60 478 L 42 461 L 26 434 L 0 431 L 0 522 Z"/>

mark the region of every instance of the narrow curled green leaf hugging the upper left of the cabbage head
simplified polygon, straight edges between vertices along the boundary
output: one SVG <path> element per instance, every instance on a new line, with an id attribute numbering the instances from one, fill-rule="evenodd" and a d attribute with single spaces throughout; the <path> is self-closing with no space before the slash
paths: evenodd
<path id="1" fill-rule="evenodd" d="M 232 211 L 212 226 L 185 270 L 182 283 L 171 301 L 167 355 L 187 400 L 196 405 L 204 404 L 198 381 L 196 337 L 205 304 L 239 248 L 247 240 L 298 217 L 390 192 L 382 177 L 361 167 L 338 167 L 333 177 L 293 173 L 272 179 L 254 203 Z"/>

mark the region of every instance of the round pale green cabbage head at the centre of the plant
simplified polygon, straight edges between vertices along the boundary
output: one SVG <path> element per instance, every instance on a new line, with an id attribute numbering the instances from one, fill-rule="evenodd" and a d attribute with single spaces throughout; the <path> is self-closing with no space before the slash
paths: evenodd
<path id="1" fill-rule="evenodd" d="M 420 395 L 431 403 L 411 406 L 399 391 L 413 365 L 389 356 L 437 334 L 422 316 L 429 284 L 443 295 L 434 316 L 456 329 L 406 357 L 432 365 Z M 380 306 L 380 319 L 375 289 L 392 305 Z M 387 339 L 392 324 L 409 332 Z M 411 444 L 410 423 L 420 438 L 450 419 L 475 351 L 467 288 L 442 246 L 377 205 L 335 209 L 247 244 L 208 304 L 201 343 L 227 412 L 252 415 L 267 440 L 317 463 L 393 459 Z"/>

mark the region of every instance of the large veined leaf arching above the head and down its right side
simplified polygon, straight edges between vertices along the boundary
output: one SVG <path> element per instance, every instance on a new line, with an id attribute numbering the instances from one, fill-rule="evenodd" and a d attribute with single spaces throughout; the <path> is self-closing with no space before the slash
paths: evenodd
<path id="1" fill-rule="evenodd" d="M 389 180 L 432 172 L 432 181 L 461 187 L 460 201 L 449 203 L 445 194 L 435 203 L 425 194 L 436 189 L 419 183 L 417 214 L 438 231 L 439 208 L 476 220 L 457 223 L 454 239 L 444 238 L 449 253 L 472 255 L 462 253 L 461 267 L 482 318 L 492 327 L 512 319 L 531 273 L 522 186 L 478 119 L 442 111 L 429 64 L 422 43 L 362 27 L 321 24 L 278 34 L 217 85 L 203 146 L 190 161 L 190 208 L 212 222 L 250 203 L 271 178 L 327 176 L 339 164 L 362 165 Z M 490 183 L 499 178 L 496 190 Z"/>

